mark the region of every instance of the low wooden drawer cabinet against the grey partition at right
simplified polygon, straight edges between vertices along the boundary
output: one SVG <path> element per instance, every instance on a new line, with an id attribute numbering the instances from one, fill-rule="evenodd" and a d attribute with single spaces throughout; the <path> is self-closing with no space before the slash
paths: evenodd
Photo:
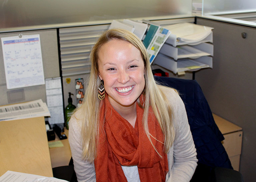
<path id="1" fill-rule="evenodd" d="M 242 128 L 213 114 L 214 120 L 224 136 L 222 144 L 234 170 L 239 171 L 240 155 L 242 148 Z"/>

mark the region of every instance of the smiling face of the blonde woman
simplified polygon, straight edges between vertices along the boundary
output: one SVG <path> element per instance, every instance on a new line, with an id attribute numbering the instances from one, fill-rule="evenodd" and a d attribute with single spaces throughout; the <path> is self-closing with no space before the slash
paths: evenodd
<path id="1" fill-rule="evenodd" d="M 99 77 L 110 104 L 131 106 L 145 87 L 144 62 L 139 49 L 123 40 L 111 40 L 99 51 Z"/>

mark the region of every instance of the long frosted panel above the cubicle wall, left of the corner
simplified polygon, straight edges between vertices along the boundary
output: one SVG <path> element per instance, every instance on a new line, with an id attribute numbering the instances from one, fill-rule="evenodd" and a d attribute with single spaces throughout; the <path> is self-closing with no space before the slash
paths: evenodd
<path id="1" fill-rule="evenodd" d="M 191 15 L 191 0 L 0 0 L 0 29 Z"/>

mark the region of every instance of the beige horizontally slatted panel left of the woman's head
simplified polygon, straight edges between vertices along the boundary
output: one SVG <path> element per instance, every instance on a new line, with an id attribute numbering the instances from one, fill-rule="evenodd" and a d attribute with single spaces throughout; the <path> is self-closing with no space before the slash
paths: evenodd
<path id="1" fill-rule="evenodd" d="M 92 46 L 109 25 L 62 28 L 59 31 L 62 76 L 90 73 Z"/>

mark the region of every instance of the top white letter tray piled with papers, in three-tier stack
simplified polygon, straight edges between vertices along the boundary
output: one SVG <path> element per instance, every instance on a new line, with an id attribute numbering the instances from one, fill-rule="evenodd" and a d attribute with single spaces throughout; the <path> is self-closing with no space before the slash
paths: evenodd
<path id="1" fill-rule="evenodd" d="M 171 31 L 166 43 L 176 47 L 178 45 L 197 45 L 204 42 L 213 42 L 212 27 L 193 23 L 178 23 L 164 26 Z"/>

